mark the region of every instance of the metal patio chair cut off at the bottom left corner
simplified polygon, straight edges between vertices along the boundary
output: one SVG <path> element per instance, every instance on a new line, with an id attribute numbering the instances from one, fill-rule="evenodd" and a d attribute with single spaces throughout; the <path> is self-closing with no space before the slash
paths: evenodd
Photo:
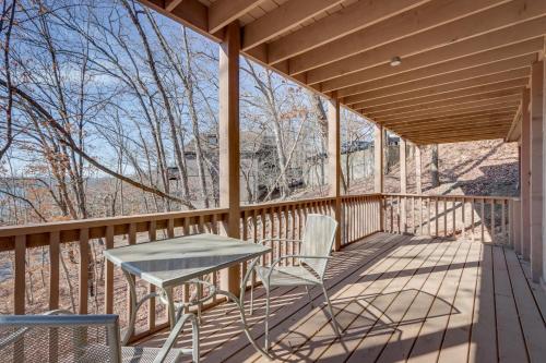
<path id="1" fill-rule="evenodd" d="M 192 348 L 173 349 L 185 323 L 192 326 Z M 2 362 L 180 362 L 191 354 L 199 362 L 199 325 L 183 314 L 162 348 L 121 347 L 118 315 L 73 315 L 54 311 L 44 315 L 0 316 Z"/>

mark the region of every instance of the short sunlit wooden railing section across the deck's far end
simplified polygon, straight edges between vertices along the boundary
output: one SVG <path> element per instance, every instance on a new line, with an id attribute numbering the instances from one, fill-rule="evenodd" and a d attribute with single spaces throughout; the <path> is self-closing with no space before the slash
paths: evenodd
<path id="1" fill-rule="evenodd" d="M 502 196 L 383 195 L 384 231 L 463 237 L 512 246 L 519 235 L 520 202 Z"/>

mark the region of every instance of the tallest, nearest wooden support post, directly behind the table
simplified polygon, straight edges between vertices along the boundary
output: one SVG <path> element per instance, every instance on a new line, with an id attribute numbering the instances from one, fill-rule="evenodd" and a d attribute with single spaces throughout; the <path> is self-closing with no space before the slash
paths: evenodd
<path id="1" fill-rule="evenodd" d="M 219 46 L 219 205 L 229 208 L 225 232 L 240 234 L 239 210 L 239 50 L 240 28 L 237 22 L 226 26 Z M 221 288 L 239 294 L 240 267 L 221 274 Z"/>

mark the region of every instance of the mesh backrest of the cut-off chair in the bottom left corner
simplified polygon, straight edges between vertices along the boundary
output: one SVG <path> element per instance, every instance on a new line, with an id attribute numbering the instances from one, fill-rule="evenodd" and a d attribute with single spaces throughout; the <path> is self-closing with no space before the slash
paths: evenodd
<path id="1" fill-rule="evenodd" d="M 8 362 L 121 362 L 118 316 L 0 316 L 1 356 Z"/>

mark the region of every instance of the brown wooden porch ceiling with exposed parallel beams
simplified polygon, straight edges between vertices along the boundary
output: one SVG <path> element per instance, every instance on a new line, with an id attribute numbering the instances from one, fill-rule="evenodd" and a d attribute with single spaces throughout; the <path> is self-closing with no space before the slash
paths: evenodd
<path id="1" fill-rule="evenodd" d="M 416 144 L 506 138 L 546 1 L 140 0 Z M 390 64 L 393 57 L 402 63 Z"/>

